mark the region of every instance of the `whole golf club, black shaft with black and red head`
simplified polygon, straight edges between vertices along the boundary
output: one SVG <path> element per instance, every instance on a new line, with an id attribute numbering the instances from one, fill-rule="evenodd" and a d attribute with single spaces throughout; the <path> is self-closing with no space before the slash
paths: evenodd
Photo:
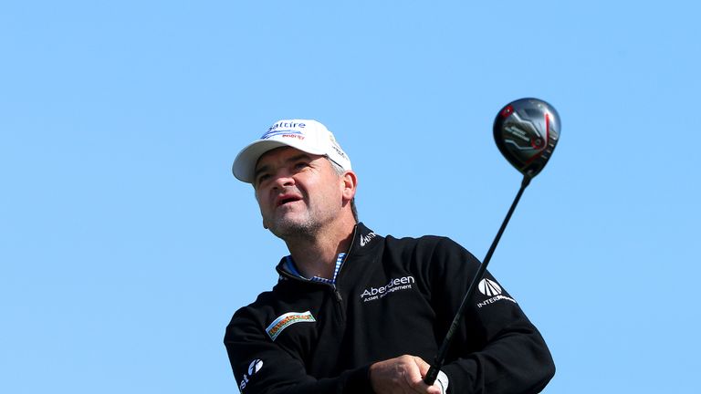
<path id="1" fill-rule="evenodd" d="M 477 269 L 470 286 L 467 287 L 466 295 L 455 313 L 453 323 L 445 334 L 434 363 L 426 373 L 424 382 L 429 386 L 434 384 L 438 372 L 443 367 L 455 330 L 460 325 L 468 302 L 475 294 L 477 284 L 487 270 L 487 264 L 489 264 L 494 250 L 497 249 L 499 239 L 507 228 L 508 220 L 514 213 L 518 200 L 521 199 L 521 195 L 528 187 L 530 180 L 543 170 L 552 155 L 552 151 L 555 150 L 555 145 L 560 140 L 560 116 L 551 105 L 541 99 L 512 101 L 501 109 L 497 118 L 494 119 L 494 140 L 497 142 L 497 148 L 501 154 L 523 174 L 523 181 L 521 181 L 521 187 L 514 202 L 511 203 L 507 217 L 501 223 L 497 236 L 487 251 L 487 256 Z"/>

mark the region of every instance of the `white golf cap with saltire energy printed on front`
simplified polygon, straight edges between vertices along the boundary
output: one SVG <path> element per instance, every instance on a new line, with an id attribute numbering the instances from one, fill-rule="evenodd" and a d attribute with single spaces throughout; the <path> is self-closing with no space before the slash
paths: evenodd
<path id="1" fill-rule="evenodd" d="M 343 170 L 351 170 L 351 159 L 333 134 L 316 120 L 282 119 L 270 126 L 260 139 L 241 150 L 232 171 L 239 181 L 253 183 L 256 163 L 268 150 L 288 146 L 310 154 L 328 157 Z"/>

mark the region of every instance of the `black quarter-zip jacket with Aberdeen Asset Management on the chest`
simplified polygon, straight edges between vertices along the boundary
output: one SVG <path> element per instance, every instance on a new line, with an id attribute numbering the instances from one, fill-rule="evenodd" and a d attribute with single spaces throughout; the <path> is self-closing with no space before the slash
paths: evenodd
<path id="1" fill-rule="evenodd" d="M 373 362 L 409 354 L 431 363 L 478 266 L 448 238 L 385 238 L 362 224 L 336 285 L 290 275 L 280 262 L 273 290 L 226 327 L 239 389 L 371 393 Z M 449 392 L 539 392 L 555 372 L 548 347 L 516 301 L 485 279 L 441 368 Z"/>

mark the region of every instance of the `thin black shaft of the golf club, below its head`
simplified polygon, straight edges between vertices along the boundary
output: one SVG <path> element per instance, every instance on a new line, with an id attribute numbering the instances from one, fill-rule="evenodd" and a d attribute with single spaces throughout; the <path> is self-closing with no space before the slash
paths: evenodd
<path id="1" fill-rule="evenodd" d="M 467 305 L 469 304 L 472 296 L 475 295 L 477 284 L 479 284 L 479 281 L 482 279 L 482 276 L 485 275 L 485 271 L 487 271 L 487 264 L 489 264 L 489 260 L 491 260 L 492 254 L 494 254 L 495 249 L 497 249 L 497 244 L 499 244 L 499 239 L 501 239 L 501 235 L 504 233 L 504 230 L 507 228 L 508 221 L 509 221 L 509 219 L 511 219 L 511 215 L 514 213 L 514 210 L 516 210 L 516 206 L 518 205 L 518 201 L 521 199 L 521 195 L 526 190 L 526 187 L 528 187 L 528 183 L 530 183 L 530 180 L 531 180 L 530 176 L 524 175 L 523 181 L 521 181 L 521 188 L 518 190 L 518 193 L 516 194 L 516 198 L 514 199 L 514 202 L 511 203 L 511 208 L 509 208 L 509 210 L 508 210 L 507 217 L 505 217 L 504 222 L 501 223 L 501 227 L 499 228 L 499 231 L 497 232 L 497 236 L 494 237 L 494 241 L 492 241 L 492 245 L 489 247 L 489 250 L 487 251 L 487 255 L 485 256 L 485 259 L 482 261 L 482 264 L 479 265 L 479 269 L 477 269 L 477 273 L 475 274 L 475 277 L 472 279 L 472 283 L 470 283 L 470 286 L 467 287 L 467 293 L 463 297 L 463 302 L 460 304 L 460 307 L 457 309 L 457 312 L 455 313 L 455 317 L 453 318 L 453 323 L 451 323 L 450 327 L 448 328 L 448 332 L 445 334 L 445 338 L 443 339 L 443 344 L 438 349 L 438 354 L 435 356 L 434 363 L 431 365 L 431 368 L 428 369 L 428 372 L 426 373 L 426 376 L 424 378 L 424 382 L 429 386 L 434 384 L 435 378 L 438 377 L 438 372 L 441 370 L 441 367 L 443 367 L 443 363 L 445 362 L 445 356 L 447 355 L 448 348 L 450 347 L 450 343 L 453 340 L 453 337 L 455 335 L 455 331 L 457 330 L 457 327 L 460 326 L 460 322 L 462 321 L 463 315 L 465 314 L 465 309 L 466 309 Z"/>

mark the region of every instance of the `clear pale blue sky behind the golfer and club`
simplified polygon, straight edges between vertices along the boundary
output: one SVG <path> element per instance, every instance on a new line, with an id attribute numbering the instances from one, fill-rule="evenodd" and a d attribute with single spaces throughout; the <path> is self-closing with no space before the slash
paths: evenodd
<path id="1" fill-rule="evenodd" d="M 699 5 L 691 1 L 0 5 L 0 391 L 236 392 L 222 345 L 284 244 L 231 163 L 318 119 L 377 233 L 484 256 L 520 175 L 513 99 L 560 143 L 490 271 L 549 343 L 545 392 L 689 392 Z"/>

